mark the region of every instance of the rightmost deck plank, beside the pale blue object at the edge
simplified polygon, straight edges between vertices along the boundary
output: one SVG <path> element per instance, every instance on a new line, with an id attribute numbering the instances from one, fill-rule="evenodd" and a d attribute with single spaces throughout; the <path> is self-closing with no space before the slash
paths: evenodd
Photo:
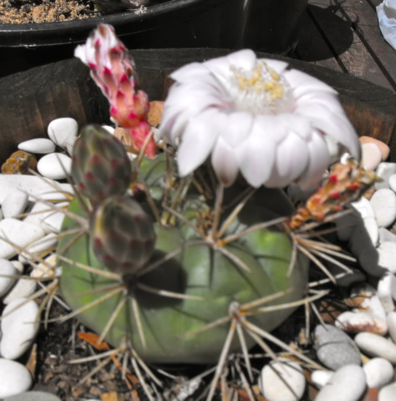
<path id="1" fill-rule="evenodd" d="M 378 17 L 373 7 L 378 0 L 335 0 L 339 3 L 345 18 L 355 28 L 357 34 L 380 66 L 384 75 L 396 90 L 396 51 L 383 39 L 378 27 Z"/>

